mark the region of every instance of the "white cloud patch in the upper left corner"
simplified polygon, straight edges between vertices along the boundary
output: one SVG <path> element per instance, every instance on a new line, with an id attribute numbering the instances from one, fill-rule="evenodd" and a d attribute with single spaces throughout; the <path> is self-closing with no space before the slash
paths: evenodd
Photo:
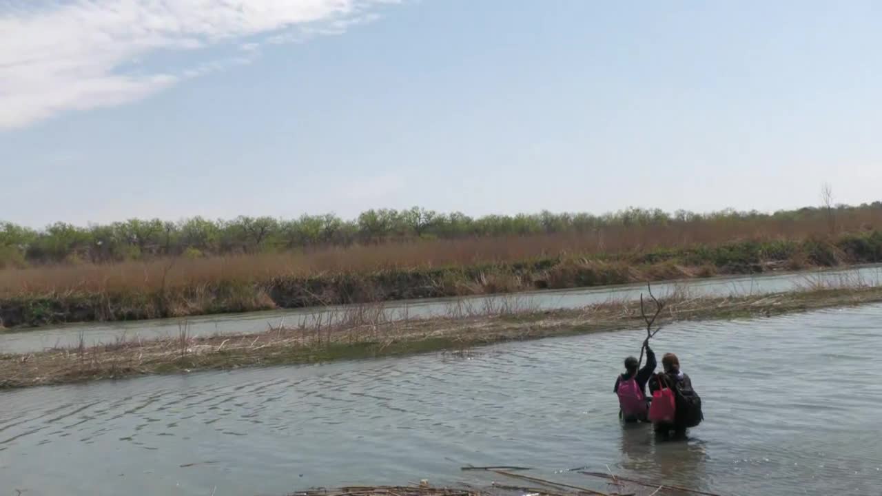
<path id="1" fill-rule="evenodd" d="M 0 131 L 71 110 L 136 101 L 247 64 L 260 45 L 340 34 L 390 0 L 8 0 L 0 3 Z M 232 44 L 185 69 L 147 56 Z"/>

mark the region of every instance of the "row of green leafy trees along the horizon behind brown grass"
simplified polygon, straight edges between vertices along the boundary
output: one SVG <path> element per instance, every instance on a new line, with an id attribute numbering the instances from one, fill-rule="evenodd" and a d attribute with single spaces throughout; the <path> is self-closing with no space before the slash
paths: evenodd
<path id="1" fill-rule="evenodd" d="M 836 212 L 882 209 L 882 202 L 859 207 L 837 206 Z M 377 244 L 414 239 L 529 236 L 542 233 L 585 233 L 629 226 L 665 226 L 696 222 L 800 221 L 826 219 L 829 207 L 805 207 L 772 214 L 727 209 L 708 214 L 684 210 L 627 208 L 615 213 L 485 215 L 473 218 L 454 212 L 440 214 L 421 207 L 371 209 L 353 220 L 335 214 L 304 214 L 297 219 L 239 216 L 233 220 L 192 217 L 180 222 L 130 219 L 86 227 L 56 222 L 30 229 L 0 222 L 0 267 L 91 261 L 95 263 L 148 257 L 191 257 L 318 246 Z"/>

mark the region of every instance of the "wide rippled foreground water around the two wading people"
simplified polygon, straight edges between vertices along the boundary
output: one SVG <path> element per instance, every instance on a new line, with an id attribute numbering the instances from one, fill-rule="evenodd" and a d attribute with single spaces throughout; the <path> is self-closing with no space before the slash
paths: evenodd
<path id="1" fill-rule="evenodd" d="M 665 327 L 654 348 L 679 355 L 705 403 L 688 442 L 618 424 L 613 382 L 641 334 L 4 392 L 0 492 L 286 494 L 476 482 L 459 470 L 472 463 L 597 489 L 554 472 L 609 466 L 720 494 L 880 494 L 882 305 Z"/>

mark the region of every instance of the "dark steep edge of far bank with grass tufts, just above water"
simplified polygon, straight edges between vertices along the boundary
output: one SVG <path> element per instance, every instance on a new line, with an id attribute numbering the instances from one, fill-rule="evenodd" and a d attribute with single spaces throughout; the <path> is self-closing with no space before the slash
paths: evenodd
<path id="1" fill-rule="evenodd" d="M 371 273 L 279 275 L 258 281 L 200 282 L 159 290 L 22 292 L 0 297 L 0 326 L 161 319 L 216 313 L 358 304 L 400 299 L 589 288 L 630 282 L 838 267 L 882 259 L 882 233 L 832 242 L 744 241 L 715 247 L 597 259 L 558 256 L 471 267 L 390 268 Z"/>

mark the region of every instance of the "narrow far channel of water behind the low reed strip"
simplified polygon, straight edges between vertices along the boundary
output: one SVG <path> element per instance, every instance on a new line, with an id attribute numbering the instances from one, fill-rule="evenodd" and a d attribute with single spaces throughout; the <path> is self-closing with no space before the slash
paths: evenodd
<path id="1" fill-rule="evenodd" d="M 882 266 L 867 266 L 845 270 L 825 270 L 789 274 L 762 274 L 739 277 L 719 277 L 703 280 L 684 280 L 654 283 L 656 295 L 664 296 L 671 291 L 688 291 L 694 296 L 751 295 L 789 291 L 805 284 L 882 284 Z M 401 300 L 383 304 L 388 319 L 405 319 L 443 316 L 458 312 L 463 306 L 480 312 L 483 308 L 517 304 L 542 310 L 579 308 L 611 300 L 624 301 L 639 298 L 646 291 L 644 284 L 607 286 L 593 289 L 563 291 L 534 291 L 513 296 L 439 298 L 425 300 Z M 155 319 L 130 322 L 104 322 L 41 327 L 38 330 L 22 330 L 0 334 L 0 353 L 32 353 L 48 348 L 70 348 L 78 345 L 80 337 L 86 346 L 115 342 L 118 339 L 149 340 L 177 336 L 183 322 L 190 335 L 243 334 L 265 331 L 269 325 L 296 326 L 314 321 L 322 314 L 345 312 L 354 305 L 325 308 L 304 308 L 273 312 L 249 312 L 238 314 L 206 315 L 188 319 Z"/>

